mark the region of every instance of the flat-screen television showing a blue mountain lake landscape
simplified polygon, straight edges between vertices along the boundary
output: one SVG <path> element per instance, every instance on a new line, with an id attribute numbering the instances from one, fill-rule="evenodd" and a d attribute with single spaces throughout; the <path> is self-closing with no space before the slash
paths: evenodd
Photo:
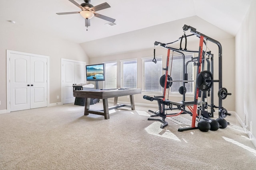
<path id="1" fill-rule="evenodd" d="M 87 81 L 104 81 L 105 80 L 104 63 L 86 65 L 86 80 Z"/>

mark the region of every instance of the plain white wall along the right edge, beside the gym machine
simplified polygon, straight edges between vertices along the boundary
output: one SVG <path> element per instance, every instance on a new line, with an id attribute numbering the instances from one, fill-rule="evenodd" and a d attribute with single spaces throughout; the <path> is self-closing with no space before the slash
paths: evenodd
<path id="1" fill-rule="evenodd" d="M 236 113 L 256 146 L 256 1 L 236 35 Z"/>

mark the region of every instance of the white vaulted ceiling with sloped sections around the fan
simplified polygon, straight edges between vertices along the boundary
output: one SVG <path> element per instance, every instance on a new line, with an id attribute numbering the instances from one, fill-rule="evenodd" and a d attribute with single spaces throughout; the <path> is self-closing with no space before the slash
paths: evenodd
<path id="1" fill-rule="evenodd" d="M 69 0 L 1 0 L 0 23 L 15 21 L 20 29 L 80 43 L 88 57 L 98 57 L 150 48 L 154 41 L 171 42 L 182 35 L 184 24 L 216 38 L 234 37 L 252 0 L 91 0 L 90 4 L 104 2 L 111 8 L 97 13 L 116 19 L 116 25 L 94 17 L 86 31 L 80 14 L 56 14 L 80 11 Z"/>

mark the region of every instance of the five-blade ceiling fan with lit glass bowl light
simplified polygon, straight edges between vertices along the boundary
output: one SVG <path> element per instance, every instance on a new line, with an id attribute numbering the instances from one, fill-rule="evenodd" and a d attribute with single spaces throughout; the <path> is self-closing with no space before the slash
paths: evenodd
<path id="1" fill-rule="evenodd" d="M 99 10 L 104 10 L 106 8 L 110 8 L 110 5 L 107 2 L 104 2 L 102 4 L 99 4 L 97 6 L 93 6 L 92 4 L 90 4 L 91 0 L 84 0 L 85 3 L 82 4 L 78 4 L 76 1 L 74 0 L 69 0 L 70 2 L 72 2 L 74 5 L 78 6 L 79 8 L 81 8 L 82 11 L 78 11 L 78 12 L 61 12 L 61 13 L 56 13 L 58 15 L 66 15 L 66 14 L 81 14 L 81 16 L 83 18 L 85 18 L 85 26 L 88 27 L 90 26 L 90 19 L 92 17 L 98 17 L 101 18 L 103 20 L 109 21 L 109 22 L 114 22 L 116 21 L 113 18 L 101 15 L 96 13 L 96 11 Z"/>

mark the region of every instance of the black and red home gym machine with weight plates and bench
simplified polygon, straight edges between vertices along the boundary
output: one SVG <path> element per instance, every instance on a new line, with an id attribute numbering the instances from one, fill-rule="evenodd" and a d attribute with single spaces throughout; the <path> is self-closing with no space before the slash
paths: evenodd
<path id="1" fill-rule="evenodd" d="M 186 31 L 190 29 L 191 35 L 186 36 Z M 155 42 L 154 45 L 160 45 L 161 47 L 164 47 L 167 49 L 167 61 L 166 61 L 166 68 L 163 68 L 165 70 L 165 74 L 160 78 L 160 85 L 163 87 L 163 95 L 162 96 L 143 96 L 146 100 L 156 100 L 158 102 L 158 111 L 151 111 L 149 112 L 154 113 L 154 115 L 151 115 L 150 117 L 162 117 L 162 119 L 154 119 L 154 118 L 148 118 L 148 120 L 156 120 L 160 121 L 163 124 L 161 125 L 161 128 L 164 128 L 168 125 L 168 122 L 165 121 L 166 117 L 172 117 L 177 116 L 182 113 L 188 113 L 192 115 L 192 123 L 191 127 L 184 127 L 179 128 L 178 131 L 186 131 L 186 130 L 192 130 L 192 129 L 200 129 L 200 127 L 203 125 L 203 121 L 212 122 L 214 119 L 210 119 L 211 117 L 214 117 L 213 113 L 215 111 L 214 108 L 218 108 L 218 125 L 220 125 L 220 128 L 225 128 L 227 125 L 226 120 L 224 119 L 227 115 L 231 115 L 228 113 L 228 111 L 222 107 L 222 100 L 226 99 L 228 95 L 231 95 L 231 93 L 228 93 L 228 90 L 226 88 L 222 87 L 222 46 L 220 42 L 196 31 L 194 27 L 184 25 L 183 26 L 184 35 L 180 37 L 177 41 L 180 41 L 180 48 L 170 47 L 169 44 L 175 43 L 176 41 L 172 43 L 160 43 Z M 193 51 L 188 50 L 186 48 L 187 45 L 187 37 L 196 35 L 198 38 L 200 38 L 199 43 L 199 50 Z M 185 38 L 185 48 L 182 49 L 182 39 Z M 218 80 L 213 79 L 213 73 L 214 73 L 214 66 L 213 66 L 213 57 L 214 55 L 211 53 L 211 51 L 207 51 L 207 43 L 208 41 L 218 45 Z M 203 50 L 203 47 L 204 50 Z M 172 60 L 173 60 L 173 53 L 179 53 L 183 57 L 183 80 L 172 80 L 172 77 L 168 75 L 168 68 L 169 68 L 169 59 L 170 59 L 170 51 L 172 50 Z M 192 57 L 190 61 L 187 63 L 185 62 L 185 55 L 184 52 L 191 52 L 191 53 L 198 53 L 198 57 Z M 154 59 L 153 62 L 156 63 L 155 59 L 155 48 L 154 48 Z M 194 94 L 194 101 L 186 101 L 186 83 L 189 81 L 194 80 L 188 80 L 188 73 L 187 73 L 187 66 L 188 63 L 194 62 L 194 64 L 197 66 L 197 72 L 196 72 L 196 81 L 195 81 L 195 94 Z M 207 67 L 205 66 L 207 64 Z M 171 61 L 171 69 L 172 70 L 172 61 Z M 170 100 L 166 100 L 166 89 L 170 88 L 172 86 L 172 82 L 175 81 L 181 81 L 182 86 L 179 88 L 179 93 L 182 94 L 182 101 L 181 102 L 173 102 Z M 213 84 L 214 82 L 218 82 L 219 84 L 219 90 L 218 90 L 218 106 L 214 105 L 214 88 Z M 168 94 L 169 96 L 169 94 Z M 205 101 L 205 98 L 210 97 L 210 102 Z M 200 101 L 198 101 L 198 98 L 200 98 Z M 210 107 L 210 108 L 209 108 Z M 188 110 L 186 110 L 188 108 Z M 180 110 L 178 113 L 166 113 L 167 110 Z M 205 110 L 207 109 L 207 111 Z M 208 109 L 210 111 L 208 112 Z M 202 123 L 200 122 L 200 119 L 202 119 Z M 216 119 L 217 120 L 217 119 Z M 198 121 L 198 126 L 196 127 L 196 121 Z M 200 122 L 200 127 L 199 127 Z M 214 120 L 215 123 L 215 120 Z M 204 125 L 203 125 L 204 126 Z M 209 124 L 210 126 L 210 124 Z M 216 126 L 216 124 L 214 125 Z M 219 127 L 218 127 L 219 128 Z M 215 128 L 218 129 L 218 128 Z M 210 128 L 209 128 L 210 129 Z M 201 131 L 208 131 L 209 129 L 206 129 L 206 127 L 201 128 Z M 212 129 L 211 129 L 212 130 Z"/>

